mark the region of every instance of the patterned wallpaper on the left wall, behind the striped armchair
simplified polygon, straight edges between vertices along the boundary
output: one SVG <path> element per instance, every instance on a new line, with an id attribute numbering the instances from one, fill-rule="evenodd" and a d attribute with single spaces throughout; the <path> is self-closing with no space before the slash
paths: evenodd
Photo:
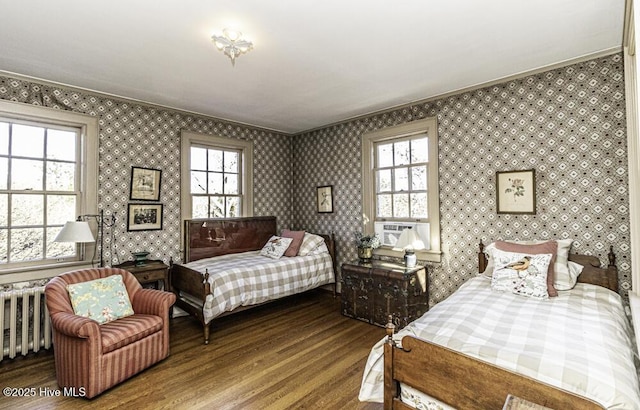
<path id="1" fill-rule="evenodd" d="M 180 261 L 180 130 L 251 140 L 254 143 L 254 214 L 275 215 L 279 228 L 291 225 L 291 137 L 277 132 L 138 104 L 100 94 L 0 76 L 0 99 L 99 118 L 98 206 L 116 214 L 105 236 L 105 261 L 149 258 Z M 162 170 L 163 229 L 127 232 L 131 167 Z M 111 241 L 111 233 L 114 241 Z M 113 253 L 112 253 L 113 250 Z"/>

